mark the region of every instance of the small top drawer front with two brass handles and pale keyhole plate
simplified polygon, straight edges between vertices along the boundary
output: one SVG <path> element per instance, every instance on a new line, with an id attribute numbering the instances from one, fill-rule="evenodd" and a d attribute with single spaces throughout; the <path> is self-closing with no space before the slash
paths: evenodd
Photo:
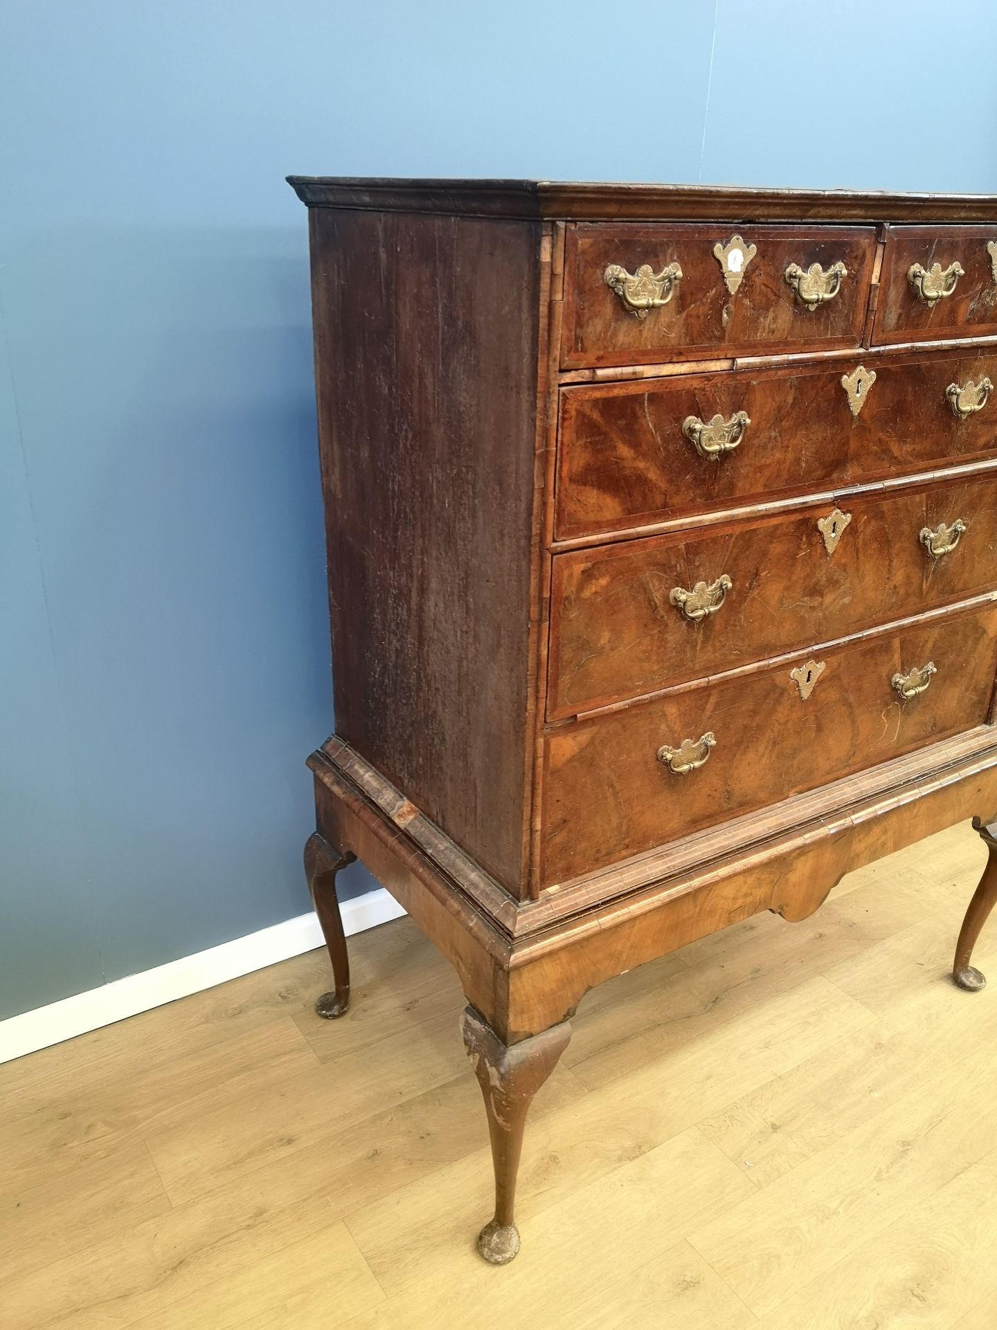
<path id="1" fill-rule="evenodd" d="M 724 257 L 735 233 L 743 246 Z M 875 241 L 871 226 L 570 227 L 561 362 L 646 364 L 857 346 Z"/>

